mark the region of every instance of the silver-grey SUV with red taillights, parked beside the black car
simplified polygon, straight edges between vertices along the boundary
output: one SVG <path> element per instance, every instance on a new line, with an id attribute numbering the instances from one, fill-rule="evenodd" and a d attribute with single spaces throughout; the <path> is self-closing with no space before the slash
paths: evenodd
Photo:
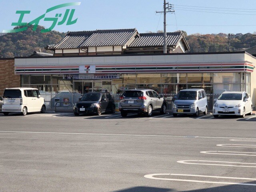
<path id="1" fill-rule="evenodd" d="M 120 97 L 119 110 L 122 117 L 128 113 L 152 115 L 153 110 L 158 110 L 161 114 L 166 113 L 166 101 L 151 89 L 126 90 Z"/>

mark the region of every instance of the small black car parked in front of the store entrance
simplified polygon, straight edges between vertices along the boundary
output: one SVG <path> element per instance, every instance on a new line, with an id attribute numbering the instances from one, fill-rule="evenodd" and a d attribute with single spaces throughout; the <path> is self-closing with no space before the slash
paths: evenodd
<path id="1" fill-rule="evenodd" d="M 106 92 L 90 92 L 84 94 L 74 105 L 74 115 L 97 114 L 104 112 L 114 113 L 116 110 L 115 102 L 111 95 Z"/>

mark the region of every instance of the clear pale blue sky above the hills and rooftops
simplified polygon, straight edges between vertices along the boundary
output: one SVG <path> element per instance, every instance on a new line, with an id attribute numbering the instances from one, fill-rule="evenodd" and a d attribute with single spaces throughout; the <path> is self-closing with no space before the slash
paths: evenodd
<path id="1" fill-rule="evenodd" d="M 75 9 L 72 25 L 56 25 L 60 32 L 96 29 L 136 28 L 139 33 L 163 30 L 164 0 L 1 0 L 0 32 L 10 30 L 12 22 L 18 22 L 17 10 L 30 10 L 22 22 L 30 22 L 44 14 L 50 7 L 69 2 L 81 2 Z M 188 34 L 253 33 L 256 31 L 255 0 L 166 0 L 174 5 L 175 14 L 166 16 L 167 32 L 184 30 Z M 253 9 L 255 8 L 255 9 Z M 67 8 L 54 10 L 46 17 L 55 17 Z M 216 13 L 217 12 L 217 13 Z M 61 18 L 60 18 L 61 19 Z M 59 20 L 60 21 L 60 20 Z M 49 28 L 50 21 L 41 20 L 40 25 Z"/>

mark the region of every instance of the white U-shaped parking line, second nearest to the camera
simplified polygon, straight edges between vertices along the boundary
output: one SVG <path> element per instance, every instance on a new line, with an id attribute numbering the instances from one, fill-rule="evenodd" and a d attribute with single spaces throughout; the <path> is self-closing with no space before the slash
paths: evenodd
<path id="1" fill-rule="evenodd" d="M 230 163 L 230 164 L 242 164 L 242 165 L 191 163 L 191 162 L 216 162 L 216 163 Z M 182 161 L 177 161 L 177 163 L 196 164 L 196 165 L 216 165 L 216 166 L 229 166 L 229 167 L 256 167 L 256 163 L 240 163 L 240 162 L 226 162 L 226 161 L 182 160 Z M 246 164 L 246 165 L 255 165 L 255 166 L 246 166 L 244 164 Z"/>

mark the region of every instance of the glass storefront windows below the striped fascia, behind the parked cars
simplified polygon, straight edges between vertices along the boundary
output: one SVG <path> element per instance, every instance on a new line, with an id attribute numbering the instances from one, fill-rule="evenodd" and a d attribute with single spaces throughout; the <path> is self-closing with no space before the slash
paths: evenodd
<path id="1" fill-rule="evenodd" d="M 47 108 L 58 102 L 77 102 L 86 92 L 110 92 L 116 102 L 125 90 L 152 89 L 172 100 L 175 94 L 186 88 L 202 88 L 207 99 L 213 103 L 224 91 L 246 91 L 250 94 L 251 74 L 237 73 L 150 73 L 119 74 L 119 79 L 79 80 L 72 75 L 21 75 L 21 86 L 38 88 L 46 100 Z M 59 107 L 65 105 L 58 104 Z M 211 105 L 209 105 L 211 106 Z M 67 107 L 67 106 L 66 106 Z M 209 107 L 210 109 L 210 107 Z"/>

